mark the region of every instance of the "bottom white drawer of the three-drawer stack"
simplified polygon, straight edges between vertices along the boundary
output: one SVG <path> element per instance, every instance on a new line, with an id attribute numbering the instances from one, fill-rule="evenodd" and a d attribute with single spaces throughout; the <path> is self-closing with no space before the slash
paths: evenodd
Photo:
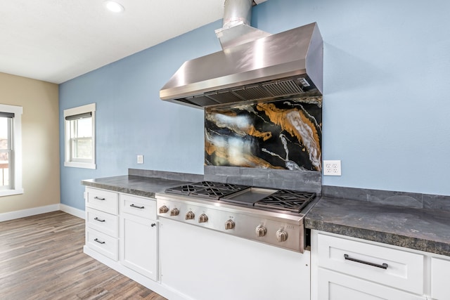
<path id="1" fill-rule="evenodd" d="M 92 228 L 86 228 L 86 245 L 110 259 L 115 261 L 119 259 L 119 243 L 115 237 L 110 237 Z"/>

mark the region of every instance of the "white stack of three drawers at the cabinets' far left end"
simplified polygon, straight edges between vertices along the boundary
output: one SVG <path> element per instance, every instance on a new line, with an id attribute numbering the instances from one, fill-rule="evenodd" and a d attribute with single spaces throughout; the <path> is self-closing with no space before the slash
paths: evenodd
<path id="1" fill-rule="evenodd" d="M 86 247 L 118 260 L 118 194 L 86 188 Z"/>

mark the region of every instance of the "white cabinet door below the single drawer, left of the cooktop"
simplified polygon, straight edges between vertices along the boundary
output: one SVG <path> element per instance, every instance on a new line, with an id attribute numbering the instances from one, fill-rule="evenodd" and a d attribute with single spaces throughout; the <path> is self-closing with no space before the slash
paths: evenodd
<path id="1" fill-rule="evenodd" d="M 120 262 L 158 280 L 158 221 L 122 214 L 120 237 Z"/>

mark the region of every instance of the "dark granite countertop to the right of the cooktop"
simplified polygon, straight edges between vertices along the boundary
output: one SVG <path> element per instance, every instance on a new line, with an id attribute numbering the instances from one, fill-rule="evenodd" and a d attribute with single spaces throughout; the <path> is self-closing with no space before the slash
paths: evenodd
<path id="1" fill-rule="evenodd" d="M 450 211 L 321 198 L 306 228 L 450 256 Z"/>

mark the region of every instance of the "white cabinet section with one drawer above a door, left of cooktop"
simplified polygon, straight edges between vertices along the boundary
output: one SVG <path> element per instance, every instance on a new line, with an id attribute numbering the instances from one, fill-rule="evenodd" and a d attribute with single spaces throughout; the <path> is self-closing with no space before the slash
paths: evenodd
<path id="1" fill-rule="evenodd" d="M 120 262 L 158 280 L 156 200 L 120 194 Z"/>

